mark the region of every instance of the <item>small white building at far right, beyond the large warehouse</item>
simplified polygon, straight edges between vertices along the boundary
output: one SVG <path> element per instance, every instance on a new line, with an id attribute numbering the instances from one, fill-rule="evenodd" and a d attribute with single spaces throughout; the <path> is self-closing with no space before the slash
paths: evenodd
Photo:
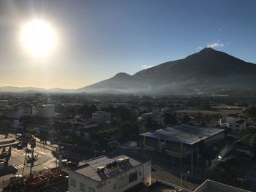
<path id="1" fill-rule="evenodd" d="M 238 114 L 227 115 L 226 125 L 231 128 L 232 134 L 239 134 L 241 129 L 246 128 L 246 120 Z"/>

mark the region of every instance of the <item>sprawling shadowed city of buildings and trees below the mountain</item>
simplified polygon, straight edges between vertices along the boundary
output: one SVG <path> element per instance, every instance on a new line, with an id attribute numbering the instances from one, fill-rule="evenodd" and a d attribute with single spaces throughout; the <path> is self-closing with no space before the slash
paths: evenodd
<path id="1" fill-rule="evenodd" d="M 1 93 L 1 188 L 254 191 L 255 104 L 236 96 Z"/>

